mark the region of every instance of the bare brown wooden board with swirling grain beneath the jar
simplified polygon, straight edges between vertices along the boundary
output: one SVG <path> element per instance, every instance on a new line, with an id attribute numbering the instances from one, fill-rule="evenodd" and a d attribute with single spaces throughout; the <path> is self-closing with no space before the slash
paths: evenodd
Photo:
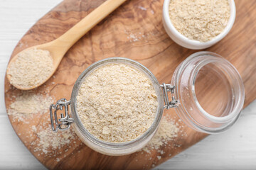
<path id="1" fill-rule="evenodd" d="M 63 1 L 26 33 L 12 56 L 26 47 L 58 38 L 100 3 L 102 1 Z M 43 94 L 47 88 L 50 89 L 50 95 L 56 99 L 70 98 L 73 84 L 85 68 L 95 61 L 113 56 L 137 60 L 148 67 L 160 83 L 169 82 L 176 66 L 196 51 L 176 45 L 166 35 L 161 23 L 162 3 L 163 1 L 129 1 L 118 8 L 68 51 L 55 73 L 55 79 L 50 79 L 37 91 Z M 247 106 L 255 99 L 256 92 L 254 74 L 256 17 L 253 11 L 255 1 L 236 1 L 236 5 L 238 14 L 235 26 L 226 38 L 208 50 L 222 55 L 238 69 L 245 83 L 245 106 Z M 53 81 L 54 85 L 51 84 Z M 5 82 L 5 91 L 6 108 L 9 108 L 11 96 L 18 94 L 19 91 L 11 88 L 8 81 Z M 174 111 L 166 111 L 166 113 L 175 115 Z M 48 114 L 43 117 L 48 118 Z M 22 123 L 14 123 L 11 118 L 10 120 L 16 133 L 21 133 L 28 127 Z M 184 130 L 188 137 L 177 137 L 174 140 L 174 144 L 181 147 L 166 148 L 166 154 L 160 160 L 156 159 L 156 152 L 152 152 L 151 155 L 135 153 L 123 157 L 108 157 L 92 151 L 85 145 L 80 145 L 65 158 L 58 155 L 62 161 L 54 162 L 53 158 L 47 155 L 35 155 L 33 148 L 28 144 L 28 139 L 23 136 L 20 138 L 23 142 L 27 142 L 24 143 L 26 147 L 49 169 L 142 169 L 150 168 L 152 164 L 161 164 L 170 158 L 170 153 L 173 157 L 206 136 L 189 128 Z M 172 142 L 170 143 L 173 145 Z M 149 161 L 149 157 L 153 159 Z M 139 162 L 136 162 L 137 159 Z M 92 162 L 92 160 L 96 161 Z"/>

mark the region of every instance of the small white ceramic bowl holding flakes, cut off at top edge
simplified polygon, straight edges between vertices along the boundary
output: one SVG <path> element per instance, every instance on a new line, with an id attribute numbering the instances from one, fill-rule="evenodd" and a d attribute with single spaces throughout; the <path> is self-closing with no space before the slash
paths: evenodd
<path id="1" fill-rule="evenodd" d="M 235 1 L 229 0 L 230 3 L 230 19 L 228 21 L 228 25 L 225 27 L 222 33 L 217 35 L 212 40 L 209 40 L 207 42 L 200 42 L 197 40 L 189 40 L 184 35 L 178 32 L 176 28 L 174 28 L 174 25 L 171 23 L 171 19 L 169 17 L 169 4 L 171 0 L 164 0 L 164 6 L 163 6 L 163 23 L 164 28 L 167 32 L 167 34 L 170 36 L 174 42 L 176 42 L 178 45 L 181 45 L 182 47 L 186 47 L 193 50 L 201 50 L 205 49 L 207 47 L 210 47 L 212 45 L 215 45 L 215 43 L 219 42 L 221 39 L 225 37 L 225 35 L 228 34 L 228 32 L 231 30 L 233 23 L 235 22 Z"/>

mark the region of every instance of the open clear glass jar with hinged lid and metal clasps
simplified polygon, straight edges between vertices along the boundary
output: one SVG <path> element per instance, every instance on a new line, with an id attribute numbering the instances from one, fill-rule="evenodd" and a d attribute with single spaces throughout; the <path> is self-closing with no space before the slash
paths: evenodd
<path id="1" fill-rule="evenodd" d="M 143 135 L 129 142 L 105 142 L 97 139 L 82 125 L 76 108 L 76 96 L 83 79 L 98 67 L 124 63 L 144 72 L 156 90 L 158 106 L 154 122 Z M 170 98 L 170 100 L 169 100 Z M 108 155 L 131 154 L 142 149 L 156 133 L 164 108 L 174 108 L 178 116 L 193 130 L 209 134 L 230 128 L 242 111 L 245 90 L 238 71 L 230 62 L 213 52 L 196 52 L 178 65 L 171 84 L 159 84 L 154 74 L 139 62 L 112 57 L 95 62 L 78 77 L 70 101 L 65 98 L 50 106 L 53 131 L 73 128 L 80 140 L 97 152 Z M 210 104 L 209 104 L 210 103 Z M 71 115 L 68 107 L 71 108 Z M 64 111 L 60 113 L 58 111 Z"/>

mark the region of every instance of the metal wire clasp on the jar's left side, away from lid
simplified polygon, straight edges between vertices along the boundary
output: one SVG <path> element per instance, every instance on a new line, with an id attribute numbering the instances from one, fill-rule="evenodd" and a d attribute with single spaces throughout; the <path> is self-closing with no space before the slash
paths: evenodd
<path id="1" fill-rule="evenodd" d="M 74 122 L 73 118 L 70 118 L 68 115 L 68 106 L 70 105 L 70 101 L 67 101 L 65 98 L 61 98 L 57 101 L 56 104 L 50 105 L 50 123 L 52 126 L 52 130 L 57 132 L 59 130 L 68 130 L 70 128 L 70 124 Z M 60 119 L 58 119 L 57 111 L 63 111 L 64 114 L 60 113 Z M 53 120 L 53 110 L 54 110 L 54 120 Z"/>

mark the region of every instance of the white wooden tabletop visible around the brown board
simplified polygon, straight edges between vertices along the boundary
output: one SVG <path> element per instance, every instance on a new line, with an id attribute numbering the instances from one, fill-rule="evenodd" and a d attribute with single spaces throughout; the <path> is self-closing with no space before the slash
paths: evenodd
<path id="1" fill-rule="evenodd" d="M 4 106 L 4 74 L 18 40 L 58 3 L 0 0 L 0 169 L 46 169 L 11 128 Z M 256 101 L 228 132 L 206 137 L 156 169 L 256 169 Z"/>

